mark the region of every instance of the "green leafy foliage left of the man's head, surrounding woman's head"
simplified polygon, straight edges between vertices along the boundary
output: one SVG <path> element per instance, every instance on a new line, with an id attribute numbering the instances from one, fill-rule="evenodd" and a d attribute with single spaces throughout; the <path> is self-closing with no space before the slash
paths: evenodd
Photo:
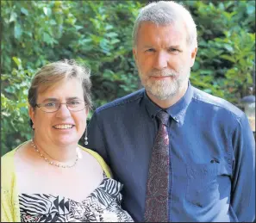
<path id="1" fill-rule="evenodd" d="M 31 137 L 28 86 L 47 62 L 76 59 L 90 66 L 96 107 L 138 89 L 130 35 L 139 2 L 3 1 L 2 6 L 2 154 Z"/>

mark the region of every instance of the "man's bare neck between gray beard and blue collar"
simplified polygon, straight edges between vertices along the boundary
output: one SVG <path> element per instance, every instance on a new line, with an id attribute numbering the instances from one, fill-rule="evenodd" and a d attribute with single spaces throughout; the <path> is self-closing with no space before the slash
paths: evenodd
<path id="1" fill-rule="evenodd" d="M 184 96 L 187 89 L 188 89 L 188 84 L 185 84 L 182 88 L 178 90 L 178 92 L 174 96 L 170 96 L 165 100 L 160 100 L 159 98 L 157 98 L 156 96 L 153 96 L 148 91 L 147 91 L 147 96 L 151 99 L 152 102 L 157 104 L 160 108 L 169 108 Z"/>

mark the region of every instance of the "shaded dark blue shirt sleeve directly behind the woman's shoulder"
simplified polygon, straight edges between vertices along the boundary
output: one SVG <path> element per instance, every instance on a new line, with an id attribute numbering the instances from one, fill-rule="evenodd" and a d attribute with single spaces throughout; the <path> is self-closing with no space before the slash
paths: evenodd
<path id="1" fill-rule="evenodd" d="M 97 152 L 104 161 L 109 164 L 108 154 L 105 148 L 103 131 L 100 126 L 103 125 L 99 121 L 97 111 L 92 115 L 87 129 L 88 145 L 87 148 Z"/>

